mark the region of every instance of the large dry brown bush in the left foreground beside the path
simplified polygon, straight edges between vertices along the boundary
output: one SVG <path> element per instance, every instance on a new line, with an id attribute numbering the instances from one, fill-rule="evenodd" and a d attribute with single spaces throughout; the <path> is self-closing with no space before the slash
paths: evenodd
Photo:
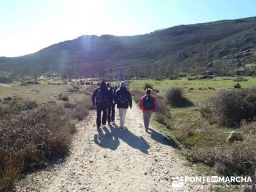
<path id="1" fill-rule="evenodd" d="M 21 172 L 68 153 L 74 125 L 56 104 L 0 116 L 0 191 L 12 188 Z"/>

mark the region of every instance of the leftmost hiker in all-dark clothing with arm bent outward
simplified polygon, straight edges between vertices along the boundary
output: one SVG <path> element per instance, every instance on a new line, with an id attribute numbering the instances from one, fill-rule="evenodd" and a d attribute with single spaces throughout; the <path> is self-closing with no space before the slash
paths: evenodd
<path id="1" fill-rule="evenodd" d="M 97 119 L 96 124 L 97 128 L 100 127 L 100 125 L 106 125 L 107 121 L 107 107 L 108 107 L 108 99 L 107 99 L 107 85 L 104 81 L 100 83 L 100 87 L 97 88 L 92 94 L 92 104 L 97 109 Z M 103 112 L 101 117 L 101 112 Z"/>

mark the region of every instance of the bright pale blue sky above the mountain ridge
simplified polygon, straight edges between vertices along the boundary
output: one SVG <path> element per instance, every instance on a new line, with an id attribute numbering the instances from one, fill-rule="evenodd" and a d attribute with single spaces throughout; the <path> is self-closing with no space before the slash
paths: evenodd
<path id="1" fill-rule="evenodd" d="M 255 0 L 0 0 L 0 56 L 29 54 L 81 35 L 139 35 L 253 16 Z"/>

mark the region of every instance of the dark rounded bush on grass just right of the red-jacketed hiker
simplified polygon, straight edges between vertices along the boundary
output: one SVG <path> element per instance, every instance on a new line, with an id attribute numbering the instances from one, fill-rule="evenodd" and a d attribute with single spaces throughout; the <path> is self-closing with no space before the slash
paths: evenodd
<path id="1" fill-rule="evenodd" d="M 166 91 L 166 101 L 173 107 L 193 106 L 193 102 L 183 96 L 181 88 L 170 88 Z"/>

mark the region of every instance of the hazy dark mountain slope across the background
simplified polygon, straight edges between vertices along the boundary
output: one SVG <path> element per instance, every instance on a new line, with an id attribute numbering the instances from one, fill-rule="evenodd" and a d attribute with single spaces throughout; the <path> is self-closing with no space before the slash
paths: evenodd
<path id="1" fill-rule="evenodd" d="M 221 20 L 175 26 L 145 35 L 79 36 L 34 54 L 2 57 L 0 70 L 81 74 L 102 68 L 126 70 L 131 65 L 159 63 L 159 67 L 169 67 L 169 72 L 188 72 L 205 67 L 211 61 L 223 68 L 232 68 L 236 63 L 245 65 L 256 61 L 255 44 L 256 17 Z M 126 62 L 118 63 L 120 61 Z"/>

